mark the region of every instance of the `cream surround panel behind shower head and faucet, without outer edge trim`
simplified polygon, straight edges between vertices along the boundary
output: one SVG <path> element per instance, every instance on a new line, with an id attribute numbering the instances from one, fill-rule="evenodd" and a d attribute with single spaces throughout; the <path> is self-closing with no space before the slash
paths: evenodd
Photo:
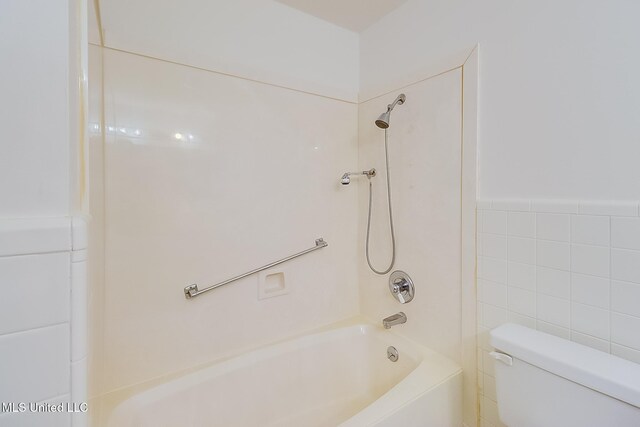
<path id="1" fill-rule="evenodd" d="M 407 100 L 394 109 L 388 129 L 397 246 L 393 270 L 411 276 L 416 296 L 400 305 L 389 292 L 389 274 L 376 275 L 366 264 L 368 185 L 363 178 L 359 180 L 358 233 L 361 311 L 376 323 L 403 311 L 408 321 L 396 327 L 396 332 L 461 363 L 462 69 L 360 104 L 359 169 L 377 170 L 372 178 L 370 254 L 378 270 L 389 264 L 391 239 L 384 131 L 374 120 L 400 91 Z"/>

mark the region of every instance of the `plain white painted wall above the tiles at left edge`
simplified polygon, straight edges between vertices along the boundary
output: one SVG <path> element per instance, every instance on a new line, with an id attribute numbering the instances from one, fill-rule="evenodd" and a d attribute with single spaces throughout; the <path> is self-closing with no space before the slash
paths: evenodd
<path id="1" fill-rule="evenodd" d="M 0 217 L 68 215 L 66 0 L 0 5 Z"/>

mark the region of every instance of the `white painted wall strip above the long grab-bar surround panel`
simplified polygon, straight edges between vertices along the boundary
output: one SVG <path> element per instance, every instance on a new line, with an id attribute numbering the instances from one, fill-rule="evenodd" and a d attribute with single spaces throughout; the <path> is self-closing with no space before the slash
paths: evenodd
<path id="1" fill-rule="evenodd" d="M 349 101 L 358 35 L 275 1 L 110 0 L 105 46 Z"/>

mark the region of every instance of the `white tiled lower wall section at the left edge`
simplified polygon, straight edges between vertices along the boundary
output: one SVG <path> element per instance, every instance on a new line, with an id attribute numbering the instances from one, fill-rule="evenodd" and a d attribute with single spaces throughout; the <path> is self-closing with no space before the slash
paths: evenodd
<path id="1" fill-rule="evenodd" d="M 0 402 L 86 402 L 86 226 L 0 220 Z M 86 426 L 86 414 L 0 411 L 2 426 Z"/>

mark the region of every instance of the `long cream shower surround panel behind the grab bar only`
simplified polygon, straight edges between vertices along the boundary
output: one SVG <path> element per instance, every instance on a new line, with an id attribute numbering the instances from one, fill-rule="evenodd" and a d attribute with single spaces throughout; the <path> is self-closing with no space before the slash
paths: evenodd
<path id="1" fill-rule="evenodd" d="M 357 105 L 103 55 L 98 393 L 357 314 L 357 198 L 338 180 L 357 166 Z M 184 298 L 184 286 L 244 273 L 318 237 L 329 247 Z M 266 276 L 279 272 L 285 294 L 259 299 Z"/>

